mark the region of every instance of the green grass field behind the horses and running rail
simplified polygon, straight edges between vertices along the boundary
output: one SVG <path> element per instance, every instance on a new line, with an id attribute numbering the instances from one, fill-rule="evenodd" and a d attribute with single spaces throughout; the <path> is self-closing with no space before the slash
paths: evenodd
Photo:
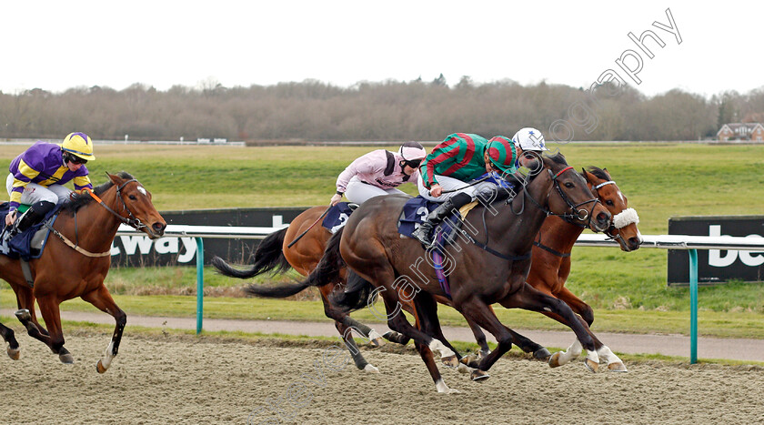
<path id="1" fill-rule="evenodd" d="M 668 218 L 672 216 L 757 215 L 764 211 L 761 173 L 764 147 L 640 143 L 558 147 L 568 163 L 578 169 L 608 168 L 628 197 L 629 206 L 637 209 L 643 234 L 667 233 Z M 327 204 L 334 193 L 337 174 L 350 161 L 372 149 L 112 145 L 96 147 L 98 160 L 88 164 L 88 168 L 95 184 L 106 181 L 105 171 L 126 170 L 134 174 L 153 193 L 160 210 L 308 207 Z M 0 166 L 6 167 L 22 150 L 18 146 L 0 147 Z M 413 185 L 401 188 L 415 193 Z M 665 250 L 624 253 L 616 248 L 575 248 L 573 256 L 568 288 L 596 309 L 596 329 L 687 332 L 689 291 L 667 287 Z M 207 287 L 236 287 L 242 283 L 206 270 Z M 196 311 L 190 295 L 196 287 L 194 268 L 114 269 L 107 285 L 116 294 L 122 294 L 116 295 L 117 302 L 129 306 L 126 310 L 130 314 L 193 316 Z M 176 299 L 139 294 L 189 295 Z M 3 306 L 13 304 L 7 285 L 2 286 L 0 296 Z M 206 300 L 208 317 L 257 318 L 263 309 L 259 299 L 220 299 L 220 309 L 212 307 L 215 302 L 216 299 Z M 281 302 L 284 304 L 278 309 L 283 312 L 279 316 L 283 319 L 324 319 L 318 305 L 310 304 L 313 301 Z M 75 306 L 75 302 L 62 307 L 66 309 L 67 305 Z M 307 309 L 308 305 L 313 307 Z M 170 309 L 170 306 L 183 307 Z M 764 323 L 764 285 L 760 283 L 701 287 L 699 306 L 701 334 L 764 336 L 761 335 L 764 326 L 760 325 Z M 441 314 L 449 314 L 447 310 L 442 308 Z M 519 313 L 518 317 L 524 314 Z M 665 315 L 676 316 L 667 319 Z M 528 327 L 556 326 L 537 317 L 528 316 Z M 608 317 L 616 318 L 611 325 Z M 704 318 L 715 323 L 714 330 L 709 330 L 711 325 Z M 684 324 L 675 326 L 674 321 Z"/>

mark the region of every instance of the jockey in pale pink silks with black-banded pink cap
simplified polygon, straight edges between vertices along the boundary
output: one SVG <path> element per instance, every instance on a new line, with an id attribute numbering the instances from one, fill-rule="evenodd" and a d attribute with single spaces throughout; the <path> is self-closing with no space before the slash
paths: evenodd
<path id="1" fill-rule="evenodd" d="M 422 145 L 406 142 L 397 152 L 377 149 L 358 157 L 337 177 L 337 193 L 331 199 L 332 205 L 337 205 L 343 194 L 357 204 L 380 195 L 406 195 L 396 187 L 417 181 L 417 168 L 426 156 Z"/>

